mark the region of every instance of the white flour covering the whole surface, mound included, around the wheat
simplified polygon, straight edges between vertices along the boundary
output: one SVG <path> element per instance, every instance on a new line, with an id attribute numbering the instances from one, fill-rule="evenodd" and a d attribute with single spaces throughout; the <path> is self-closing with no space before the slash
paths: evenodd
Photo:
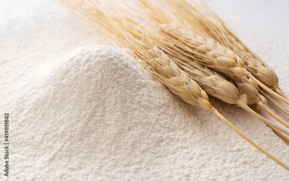
<path id="1" fill-rule="evenodd" d="M 266 1 L 257 12 L 258 1 L 212 2 L 254 51 L 276 37 L 261 57 L 289 95 L 288 1 Z M 1 1 L 0 9 L 9 3 Z M 43 19 L 47 24 L 16 52 Z M 11 130 L 10 177 L 1 171 L 1 180 L 289 180 L 288 171 L 210 112 L 168 92 L 131 58 L 116 50 L 118 58 L 97 57 L 97 47 L 70 54 L 112 43 L 62 5 L 22 0 L 0 23 L 0 115 L 9 112 Z M 66 57 L 53 61 L 66 47 Z M 268 127 L 234 105 L 211 102 L 289 164 L 288 145 Z"/>

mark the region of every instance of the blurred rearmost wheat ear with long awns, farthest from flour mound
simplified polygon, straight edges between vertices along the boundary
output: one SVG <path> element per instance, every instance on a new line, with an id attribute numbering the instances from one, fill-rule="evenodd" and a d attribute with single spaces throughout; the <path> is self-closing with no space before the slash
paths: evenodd
<path id="1" fill-rule="evenodd" d="M 200 2 L 201 4 L 192 4 L 189 1 L 182 0 L 169 1 L 165 8 L 167 10 L 176 9 L 170 11 L 170 14 L 177 17 L 179 23 L 198 29 L 206 36 L 233 50 L 245 61 L 245 67 L 255 78 L 273 89 L 277 94 L 288 99 L 278 87 L 278 77 L 272 68 L 251 51 L 215 12 L 208 10 L 202 13 L 202 6 L 206 4 L 203 1 Z"/>

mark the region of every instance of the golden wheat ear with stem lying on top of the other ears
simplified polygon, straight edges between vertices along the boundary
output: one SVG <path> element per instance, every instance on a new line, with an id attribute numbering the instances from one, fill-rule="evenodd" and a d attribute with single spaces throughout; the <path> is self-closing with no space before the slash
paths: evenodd
<path id="1" fill-rule="evenodd" d="M 218 72 L 234 76 L 247 76 L 255 81 L 260 87 L 271 95 L 282 100 L 289 105 L 289 100 L 275 93 L 260 81 L 258 81 L 250 72 L 245 69 L 244 61 L 223 45 L 214 42 L 197 32 L 186 30 L 180 27 L 160 27 L 161 36 L 174 45 L 182 48 L 184 55 L 193 55 L 193 58 L 200 63 L 209 66 Z"/>

